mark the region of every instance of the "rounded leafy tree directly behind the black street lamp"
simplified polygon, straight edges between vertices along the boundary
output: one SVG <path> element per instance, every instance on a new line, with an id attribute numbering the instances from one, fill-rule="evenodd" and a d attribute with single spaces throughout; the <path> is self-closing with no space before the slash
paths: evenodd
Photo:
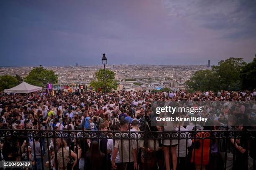
<path id="1" fill-rule="evenodd" d="M 96 80 L 92 80 L 90 86 L 94 90 L 101 89 L 104 92 L 104 69 L 100 69 L 95 72 Z M 115 81 L 115 73 L 109 69 L 106 69 L 106 91 L 110 92 L 111 90 L 116 90 L 118 83 Z"/>

